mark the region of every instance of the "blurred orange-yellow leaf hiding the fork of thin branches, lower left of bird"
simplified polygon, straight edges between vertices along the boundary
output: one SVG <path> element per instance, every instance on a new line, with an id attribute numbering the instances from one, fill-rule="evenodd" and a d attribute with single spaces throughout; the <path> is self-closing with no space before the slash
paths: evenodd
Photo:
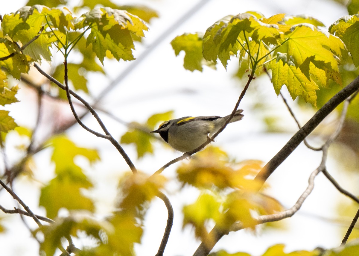
<path id="1" fill-rule="evenodd" d="M 130 173 L 125 175 L 118 185 L 121 202 L 118 205 L 124 210 L 139 208 L 144 202 L 151 201 L 164 187 L 166 178 L 160 174 L 146 175 L 144 173 Z"/>

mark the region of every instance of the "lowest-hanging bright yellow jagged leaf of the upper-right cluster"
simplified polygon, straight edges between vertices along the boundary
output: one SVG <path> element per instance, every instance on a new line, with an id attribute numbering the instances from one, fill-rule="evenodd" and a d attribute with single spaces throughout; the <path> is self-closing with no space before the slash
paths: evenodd
<path id="1" fill-rule="evenodd" d="M 300 96 L 306 102 L 316 105 L 316 90 L 319 87 L 316 83 L 309 80 L 299 68 L 283 63 L 279 59 L 278 62 L 272 60 L 268 69 L 272 70 L 272 83 L 277 95 L 279 95 L 282 86 L 285 85 L 293 100 Z"/>

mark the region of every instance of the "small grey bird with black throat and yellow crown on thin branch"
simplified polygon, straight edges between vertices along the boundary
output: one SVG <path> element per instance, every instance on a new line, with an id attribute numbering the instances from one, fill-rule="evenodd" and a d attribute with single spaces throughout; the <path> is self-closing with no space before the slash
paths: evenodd
<path id="1" fill-rule="evenodd" d="M 243 118 L 243 109 L 238 109 L 229 123 Z M 162 139 L 175 150 L 183 153 L 195 150 L 215 134 L 227 121 L 229 115 L 212 116 L 184 116 L 165 121 L 151 133 L 159 133 Z"/>

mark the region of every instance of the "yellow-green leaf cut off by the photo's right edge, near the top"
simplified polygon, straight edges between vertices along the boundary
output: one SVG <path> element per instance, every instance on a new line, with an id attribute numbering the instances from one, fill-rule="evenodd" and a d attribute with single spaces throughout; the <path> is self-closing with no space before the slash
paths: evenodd
<path id="1" fill-rule="evenodd" d="M 329 27 L 329 32 L 338 36 L 349 50 L 355 67 L 359 66 L 359 15 L 344 16 Z"/>

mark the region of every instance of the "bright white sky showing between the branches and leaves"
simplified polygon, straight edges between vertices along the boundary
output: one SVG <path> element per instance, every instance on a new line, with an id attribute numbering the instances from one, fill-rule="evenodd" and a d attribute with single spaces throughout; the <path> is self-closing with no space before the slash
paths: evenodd
<path id="1" fill-rule="evenodd" d="M 135 1 L 151 6 L 160 13 L 160 18 L 153 20 L 149 25 L 150 31 L 146 33 L 145 44 L 151 42 L 167 29 L 170 24 L 188 10 L 194 1 Z M 196 1 L 197 2 L 197 1 Z M 13 1 L 2 3 L 0 13 L 13 12 L 20 7 L 23 1 Z M 126 4 L 126 2 L 121 2 Z M 133 1 L 131 2 L 133 3 Z M 205 31 L 205 29 L 216 20 L 228 15 L 255 10 L 263 13 L 266 17 L 276 13 L 289 13 L 293 15 L 307 14 L 321 20 L 326 26 L 338 18 L 346 15 L 346 10 L 339 5 L 328 0 L 253 0 L 253 1 L 235 1 L 235 0 L 211 0 L 193 17 L 183 22 L 143 61 L 133 73 L 131 73 L 121 85 L 115 88 L 103 100 L 102 107 L 111 110 L 119 118 L 131 122 L 144 122 L 151 114 L 167 110 L 175 110 L 176 118 L 186 115 L 227 115 L 232 111 L 243 85 L 238 80 L 232 78 L 232 73 L 236 63 L 232 63 L 226 72 L 223 67 L 218 65 L 218 70 L 214 71 L 206 68 L 203 73 L 189 72 L 182 67 L 183 55 L 175 57 L 169 42 L 177 35 L 185 32 Z M 143 46 L 138 46 L 135 52 L 139 56 L 145 50 Z M 236 62 L 234 60 L 232 62 Z M 92 84 L 90 88 L 93 95 L 96 95 L 104 88 L 111 79 L 130 65 L 129 62 L 115 63 L 106 61 L 104 68 L 108 72 L 107 78 L 99 79 L 91 76 Z M 272 86 L 266 79 L 257 79 L 255 88 L 248 97 L 245 97 L 240 108 L 244 109 L 245 118 L 235 124 L 231 124 L 217 139 L 216 145 L 223 146 L 229 154 L 238 160 L 260 159 L 264 162 L 271 159 L 272 156 L 283 147 L 295 131 L 295 124 L 290 119 L 285 110 L 285 106 L 280 98 L 277 98 Z M 253 99 L 251 97 L 256 97 Z M 262 116 L 266 113 L 259 113 L 254 105 L 258 99 L 262 99 L 267 104 L 268 111 L 278 113 L 282 122 L 287 123 L 288 133 L 266 134 L 263 133 L 264 125 Z M 23 102 L 27 102 L 26 95 L 23 93 Z M 290 100 L 288 98 L 288 100 Z M 292 103 L 292 102 L 291 102 Z M 292 104 L 293 105 L 293 104 Z M 297 109 L 293 106 L 294 109 Z M 299 119 L 302 124 L 310 117 L 309 113 L 300 113 Z M 16 117 L 16 113 L 14 113 Z M 18 114 L 22 116 L 22 114 Z M 103 117 L 105 124 L 108 125 L 110 132 L 115 138 L 119 138 L 126 130 L 121 124 Z M 89 118 L 86 122 L 91 122 Z M 78 134 L 81 134 L 79 138 Z M 112 145 L 98 138 L 94 138 L 81 128 L 73 128 L 70 132 L 71 138 L 81 146 L 97 147 L 101 150 L 102 163 L 97 165 L 95 170 L 89 172 L 97 189 L 91 193 L 92 196 L 99 198 L 101 204 L 99 214 L 106 212 L 113 205 L 116 195 L 117 178 L 127 167 L 123 161 L 113 163 L 113 158 L 118 157 Z M 238 147 L 238 144 L 240 145 Z M 135 161 L 136 167 L 147 173 L 153 173 L 169 160 L 180 155 L 169 148 L 164 148 L 160 143 L 156 145 L 158 151 L 156 156 L 145 157 L 141 161 Z M 125 150 L 133 159 L 135 151 L 131 146 L 125 146 Z M 44 152 L 46 156 L 49 152 Z M 271 195 L 277 198 L 284 206 L 290 207 L 298 199 L 299 195 L 307 186 L 309 174 L 317 167 L 320 161 L 320 152 L 307 150 L 304 146 L 299 146 L 297 150 L 276 170 L 270 177 Z M 306 159 L 306 161 L 303 161 Z M 173 167 L 173 166 L 172 166 Z M 174 167 L 165 170 L 164 174 L 173 177 Z M 336 163 L 328 161 L 328 168 L 332 175 L 336 175 Z M 47 169 L 41 170 L 38 178 L 46 182 L 51 178 Z M 340 182 L 345 182 L 344 178 Z M 36 183 L 35 183 L 36 184 Z M 39 214 L 43 209 L 38 209 L 38 202 L 33 198 L 38 198 L 38 187 L 33 188 L 34 183 L 29 184 L 26 180 L 16 184 L 16 192 L 27 202 L 31 209 Z M 36 186 L 35 186 L 36 187 Z M 11 205 L 11 198 L 0 194 L 0 202 L 8 202 Z M 183 232 L 181 223 L 181 207 L 183 204 L 194 200 L 195 189 L 184 189 L 177 192 L 176 185 L 168 189 L 167 194 L 175 210 L 175 219 L 169 243 L 165 250 L 166 256 L 192 255 L 196 250 L 199 241 L 193 238 L 192 230 L 186 228 Z M 308 249 L 313 250 L 317 246 L 336 247 L 339 246 L 342 234 L 339 234 L 337 225 L 323 221 L 311 215 L 331 218 L 335 216 L 334 209 L 336 200 L 344 200 L 344 197 L 337 197 L 337 191 L 329 184 L 322 175 L 316 179 L 316 188 L 304 203 L 301 213 L 295 215 L 290 220 L 285 221 L 288 227 L 280 232 L 273 230 L 265 232 L 263 235 L 259 232 L 253 234 L 247 231 L 231 233 L 224 237 L 216 246 L 215 250 L 221 248 L 229 252 L 244 251 L 252 255 L 261 255 L 267 247 L 284 243 L 288 251 Z M 332 199 L 336 198 L 336 199 Z M 13 205 L 14 206 L 14 205 Z M 12 206 L 12 207 L 13 207 Z M 101 211 L 104 209 L 103 211 Z M 11 208 L 11 207 L 9 207 Z M 3 216 L 3 215 L 1 215 Z M 30 234 L 24 228 L 18 216 L 5 216 L 6 219 L 13 219 L 11 226 L 8 226 L 9 232 L 5 235 L 0 234 L 0 246 L 4 255 L 8 256 L 34 256 L 38 254 L 37 243 L 30 238 Z M 163 236 L 164 225 L 167 220 L 167 210 L 163 202 L 155 200 L 150 208 L 146 223 L 143 244 L 136 245 L 137 255 L 155 255 L 158 250 L 160 239 Z M 28 219 L 28 223 L 31 220 Z M 31 224 L 32 225 L 32 224 Z M 19 243 L 19 241 L 21 241 Z"/>

